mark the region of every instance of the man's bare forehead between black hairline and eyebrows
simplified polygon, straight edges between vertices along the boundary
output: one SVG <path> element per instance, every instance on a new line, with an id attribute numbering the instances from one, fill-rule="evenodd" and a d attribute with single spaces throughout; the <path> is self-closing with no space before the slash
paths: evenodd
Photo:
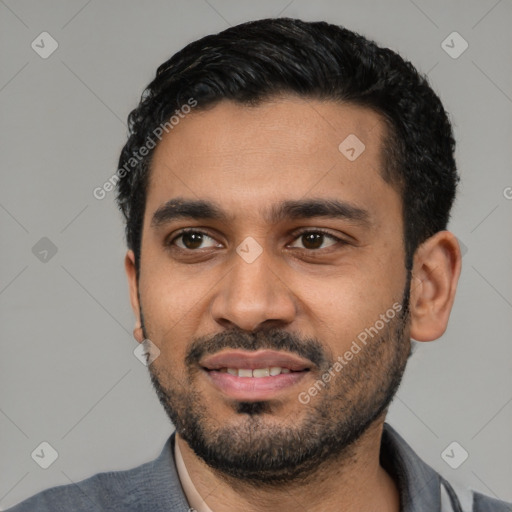
<path id="1" fill-rule="evenodd" d="M 272 199 L 336 196 L 371 210 L 376 198 L 384 204 L 385 194 L 396 196 L 382 178 L 385 134 L 378 114 L 355 105 L 296 97 L 257 106 L 222 101 L 184 116 L 162 138 L 146 209 L 173 197 L 209 198 L 249 217 Z"/>

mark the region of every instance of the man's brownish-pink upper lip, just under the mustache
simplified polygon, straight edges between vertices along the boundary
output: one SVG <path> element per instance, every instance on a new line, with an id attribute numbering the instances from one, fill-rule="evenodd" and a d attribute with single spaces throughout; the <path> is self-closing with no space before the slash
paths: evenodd
<path id="1" fill-rule="evenodd" d="M 290 352 L 266 349 L 256 351 L 240 349 L 224 350 L 202 358 L 199 364 L 206 370 L 220 370 L 221 368 L 248 368 L 255 370 L 257 368 L 280 366 L 281 368 L 288 368 L 294 372 L 302 372 L 304 370 L 310 370 L 313 367 L 313 363 L 308 359 L 291 354 Z M 266 378 L 267 377 L 262 377 L 262 379 Z"/>

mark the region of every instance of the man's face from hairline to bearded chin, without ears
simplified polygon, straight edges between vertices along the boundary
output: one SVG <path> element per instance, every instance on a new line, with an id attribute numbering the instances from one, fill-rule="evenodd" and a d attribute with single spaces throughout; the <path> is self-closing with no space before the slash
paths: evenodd
<path id="1" fill-rule="evenodd" d="M 383 140 L 370 110 L 288 97 L 191 113 L 156 148 L 138 283 L 144 335 L 160 350 L 151 378 L 212 467 L 304 474 L 396 391 L 408 281 Z M 223 218 L 173 215 L 190 201 Z M 320 208 L 334 202 L 338 214 Z"/>

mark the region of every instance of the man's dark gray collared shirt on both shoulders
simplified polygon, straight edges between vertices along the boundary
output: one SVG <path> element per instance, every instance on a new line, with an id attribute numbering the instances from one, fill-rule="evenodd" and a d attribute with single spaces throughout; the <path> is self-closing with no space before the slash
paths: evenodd
<path id="1" fill-rule="evenodd" d="M 175 433 L 151 462 L 52 487 L 8 512 L 189 512 L 174 460 L 174 443 Z M 398 485 L 401 512 L 512 512 L 512 504 L 477 492 L 466 491 L 457 497 L 452 486 L 388 423 L 384 424 L 380 460 Z"/>

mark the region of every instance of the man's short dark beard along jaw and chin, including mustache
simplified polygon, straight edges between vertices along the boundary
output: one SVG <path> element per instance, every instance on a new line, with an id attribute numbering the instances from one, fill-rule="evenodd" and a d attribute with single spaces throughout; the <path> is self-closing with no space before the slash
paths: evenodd
<path id="1" fill-rule="evenodd" d="M 196 339 L 187 352 L 185 382 L 151 364 L 150 377 L 158 399 L 195 454 L 227 480 L 269 487 L 300 484 L 326 464 L 348 462 L 354 443 L 385 416 L 411 354 L 407 281 L 402 309 L 307 406 L 301 406 L 304 413 L 294 408 L 290 416 L 278 417 L 285 404 L 277 399 L 232 400 L 235 420 L 221 424 L 195 386 L 199 359 L 223 348 L 296 353 L 318 367 L 320 380 L 336 359 L 318 340 L 280 329 L 255 334 L 230 329 L 209 339 Z"/>

